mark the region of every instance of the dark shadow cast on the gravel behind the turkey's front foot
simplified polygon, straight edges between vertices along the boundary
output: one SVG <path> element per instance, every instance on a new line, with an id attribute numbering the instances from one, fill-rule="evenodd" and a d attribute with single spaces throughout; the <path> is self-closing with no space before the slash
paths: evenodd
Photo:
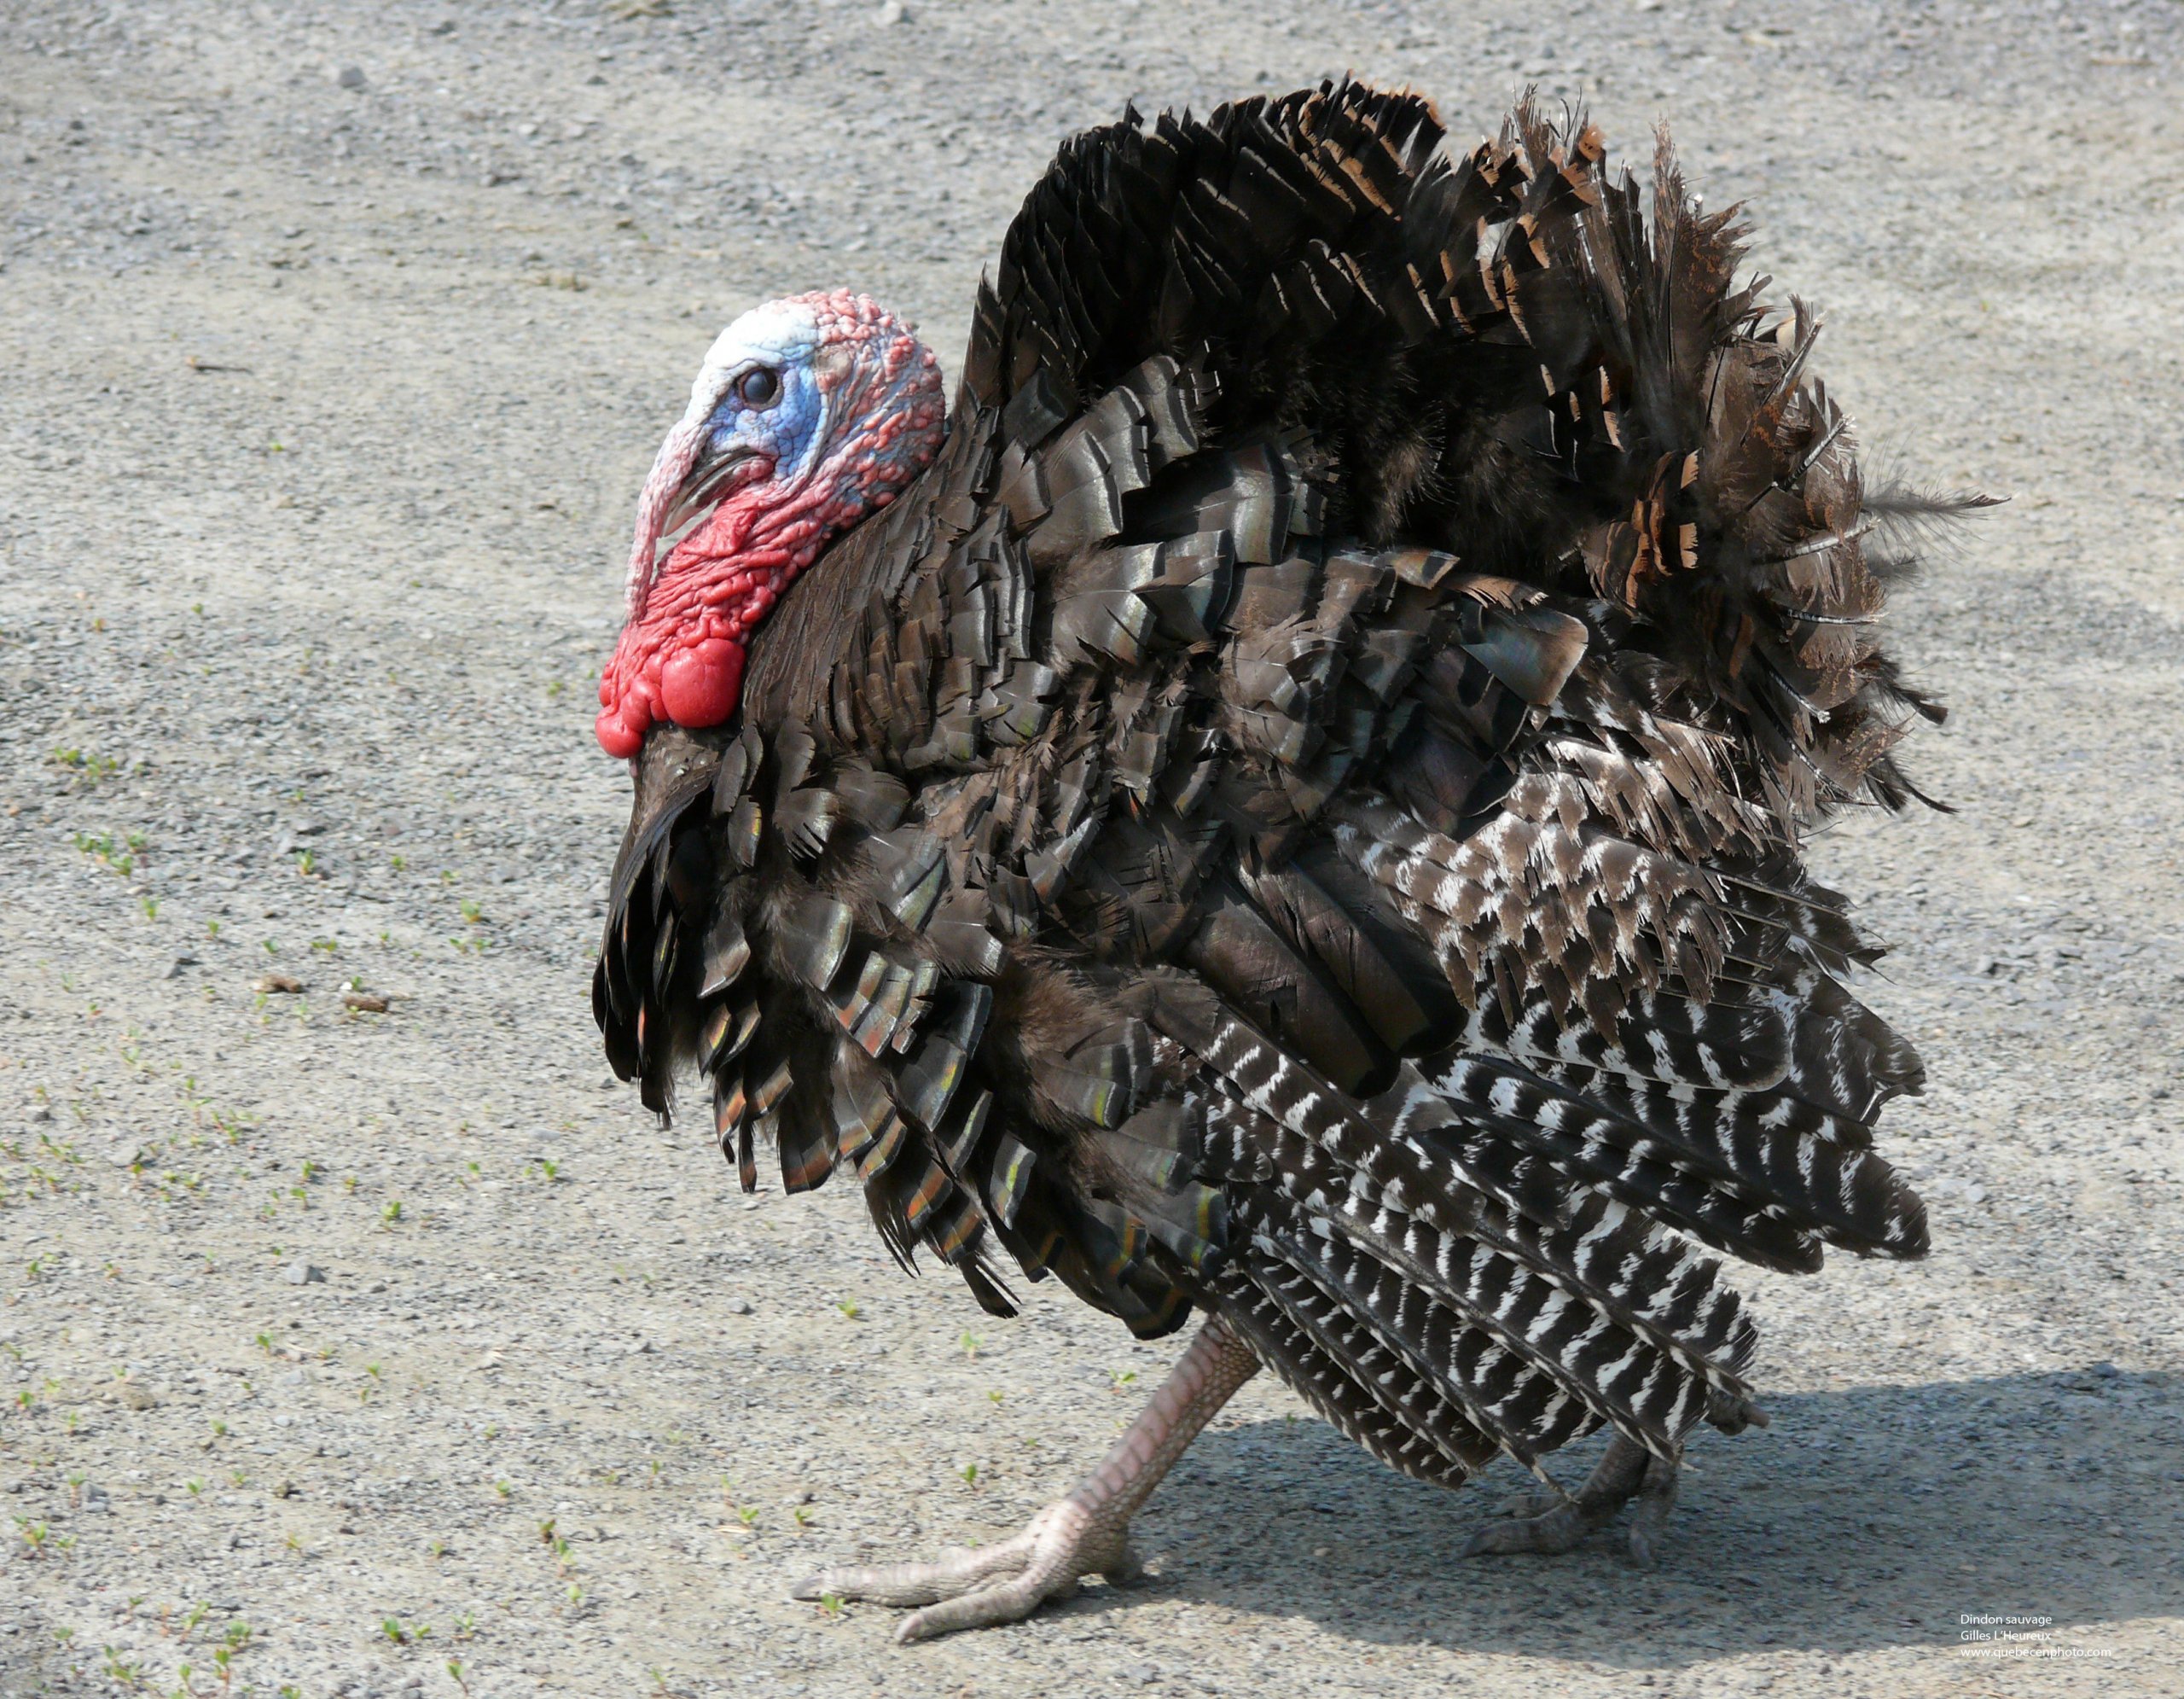
<path id="1" fill-rule="evenodd" d="M 2092 1644 L 2073 1629 L 2184 1601 L 2173 1376 L 2101 1363 L 1767 1409 L 1767 1430 L 1693 1441 L 1651 1572 L 1618 1531 L 1566 1557 L 1457 1557 L 1522 1489 L 1514 1465 L 1444 1494 L 1317 1424 L 1214 1430 L 1142 1518 L 1158 1572 L 1072 1609 L 1129 1609 L 1149 1590 L 1361 1642 L 1673 1671 L 1725 1651 L 1957 1647 L 1966 1612 L 2044 1614 L 2062 1644 Z M 1601 1443 L 1566 1452 L 1557 1476 L 1581 1478 Z"/>

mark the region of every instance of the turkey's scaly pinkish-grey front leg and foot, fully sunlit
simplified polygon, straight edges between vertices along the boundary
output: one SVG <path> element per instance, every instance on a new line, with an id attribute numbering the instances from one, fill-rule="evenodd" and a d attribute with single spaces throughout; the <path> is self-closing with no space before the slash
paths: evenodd
<path id="1" fill-rule="evenodd" d="M 1068 1599 L 1088 1575 L 1125 1581 L 1136 1575 L 1129 1518 L 1199 1428 L 1254 1374 L 1258 1358 L 1251 1347 L 1221 1317 L 1208 1317 L 1105 1461 L 1068 1498 L 1033 1516 L 1013 1540 L 976 1551 L 954 1548 L 933 1564 L 821 1570 L 799 1581 L 795 1596 L 919 1605 L 895 1629 L 895 1642 L 904 1644 L 957 1629 L 1022 1623 L 1048 1599 Z"/>

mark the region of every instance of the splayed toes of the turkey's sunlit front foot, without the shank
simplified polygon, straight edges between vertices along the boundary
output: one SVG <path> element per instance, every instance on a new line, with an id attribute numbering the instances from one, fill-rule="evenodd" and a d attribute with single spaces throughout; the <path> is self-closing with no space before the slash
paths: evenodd
<path id="1" fill-rule="evenodd" d="M 1064 1498 L 998 1546 L 952 1546 L 930 1564 L 821 1570 L 793 1594 L 915 1605 L 895 1627 L 895 1644 L 909 1644 L 957 1629 L 1022 1623 L 1046 1601 L 1070 1599 L 1088 1575 L 1123 1581 L 1136 1572 L 1127 1524 L 1101 1526 L 1083 1505 Z"/>

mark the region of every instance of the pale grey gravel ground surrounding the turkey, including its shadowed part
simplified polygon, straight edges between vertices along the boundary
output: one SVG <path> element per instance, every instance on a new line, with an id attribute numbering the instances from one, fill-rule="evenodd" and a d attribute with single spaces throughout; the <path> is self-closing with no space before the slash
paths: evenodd
<path id="1" fill-rule="evenodd" d="M 2180 39 L 2175 0 L 0 9 L 0 1692 L 2184 1692 Z M 1773 1428 L 1699 1439 L 1658 1572 L 1457 1561 L 1494 1481 L 1254 1382 L 1147 1583 L 898 1651 L 788 1583 L 1011 1529 L 1175 1343 L 1051 1286 L 989 1323 L 850 1188 L 740 1199 L 609 1090 L 633 491 L 756 299 L 856 284 L 952 360 L 1061 133 L 1343 68 L 1459 133 L 1524 81 L 1629 151 L 1673 118 L 1867 441 L 2016 496 L 1900 603 L 1961 812 L 1817 852 L 1900 946 L 1937 1249 L 1752 1278 Z M 2073 1655 L 1972 1660 L 1968 1612 Z"/>

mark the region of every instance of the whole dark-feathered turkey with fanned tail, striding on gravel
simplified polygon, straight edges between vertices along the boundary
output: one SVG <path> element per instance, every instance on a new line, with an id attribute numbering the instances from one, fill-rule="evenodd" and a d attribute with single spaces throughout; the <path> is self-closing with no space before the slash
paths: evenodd
<path id="1" fill-rule="evenodd" d="M 1813 312 L 1660 153 L 1441 146 L 1328 83 L 1068 142 L 952 415 L 856 295 L 714 343 L 646 480 L 598 736 L 636 775 L 592 1007 L 745 1190 L 847 1164 L 989 1312 L 1206 1323 L 1016 1540 L 819 1590 L 1013 1620 L 1262 1363 L 1393 1468 L 1546 1483 L 1559 1551 L 1760 1419 L 1712 1251 L 1915 1258 L 1920 1088 L 1800 863 L 1913 788 L 1904 533 Z M 1614 1439 L 1575 1494 L 1542 1459 Z"/>

